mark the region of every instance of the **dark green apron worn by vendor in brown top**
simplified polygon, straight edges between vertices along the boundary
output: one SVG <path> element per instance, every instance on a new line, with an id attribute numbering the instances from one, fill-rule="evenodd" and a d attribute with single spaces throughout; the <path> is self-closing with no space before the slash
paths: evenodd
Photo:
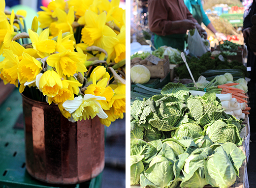
<path id="1" fill-rule="evenodd" d="M 183 51 L 185 48 L 185 37 L 186 37 L 186 33 L 171 34 L 171 35 L 165 35 L 165 36 L 160 36 L 155 34 L 154 46 L 157 49 L 161 46 L 170 46 L 172 48 Z"/>

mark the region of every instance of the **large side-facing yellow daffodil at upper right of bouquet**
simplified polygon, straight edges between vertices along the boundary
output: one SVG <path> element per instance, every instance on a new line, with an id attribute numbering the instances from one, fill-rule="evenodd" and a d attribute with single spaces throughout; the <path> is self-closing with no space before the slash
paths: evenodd
<path id="1" fill-rule="evenodd" d="M 82 29 L 82 41 L 89 45 L 95 45 L 99 48 L 103 48 L 102 38 L 103 36 L 116 36 L 116 33 L 106 23 L 106 13 L 102 12 L 97 15 L 91 10 L 85 12 L 85 27 Z"/>

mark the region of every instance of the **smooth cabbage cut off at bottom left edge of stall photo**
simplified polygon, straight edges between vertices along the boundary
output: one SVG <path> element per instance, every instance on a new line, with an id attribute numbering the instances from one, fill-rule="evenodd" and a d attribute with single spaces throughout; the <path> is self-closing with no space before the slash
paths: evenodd
<path id="1" fill-rule="evenodd" d="M 139 184 L 140 173 L 144 171 L 143 158 L 144 155 L 130 156 L 130 185 Z"/>

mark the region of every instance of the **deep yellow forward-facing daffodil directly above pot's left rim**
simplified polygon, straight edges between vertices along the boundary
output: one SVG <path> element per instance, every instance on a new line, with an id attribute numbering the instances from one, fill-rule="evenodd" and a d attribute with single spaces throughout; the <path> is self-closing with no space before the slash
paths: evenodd
<path id="1" fill-rule="evenodd" d="M 42 63 L 27 53 L 22 56 L 23 59 L 18 65 L 18 79 L 20 83 L 33 81 L 42 70 Z"/>

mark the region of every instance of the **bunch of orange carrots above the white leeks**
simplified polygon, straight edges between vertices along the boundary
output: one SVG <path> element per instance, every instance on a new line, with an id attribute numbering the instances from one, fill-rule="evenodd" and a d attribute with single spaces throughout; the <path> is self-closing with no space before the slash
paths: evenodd
<path id="1" fill-rule="evenodd" d="M 218 88 L 222 89 L 222 92 L 221 92 L 222 94 L 231 93 L 232 98 L 236 98 L 238 103 L 246 103 L 246 108 L 242 110 L 242 112 L 245 114 L 249 114 L 250 113 L 249 110 L 251 109 L 251 107 L 248 107 L 247 105 L 248 101 L 245 100 L 248 98 L 248 96 L 245 95 L 244 90 L 231 87 L 233 85 L 238 85 L 238 84 L 239 83 L 225 83 L 222 85 L 218 85 Z"/>

